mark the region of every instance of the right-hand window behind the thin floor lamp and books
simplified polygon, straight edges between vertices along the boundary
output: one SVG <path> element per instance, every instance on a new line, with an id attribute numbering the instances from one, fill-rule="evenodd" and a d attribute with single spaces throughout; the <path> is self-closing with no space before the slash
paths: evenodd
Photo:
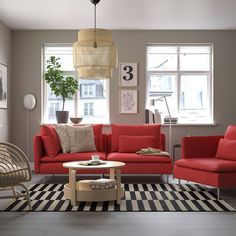
<path id="1" fill-rule="evenodd" d="M 172 117 L 180 124 L 211 124 L 212 45 L 147 45 L 147 102 L 166 96 Z M 149 107 L 149 105 L 147 105 Z M 162 118 L 164 102 L 157 101 Z M 164 119 L 162 119 L 164 120 Z"/>

